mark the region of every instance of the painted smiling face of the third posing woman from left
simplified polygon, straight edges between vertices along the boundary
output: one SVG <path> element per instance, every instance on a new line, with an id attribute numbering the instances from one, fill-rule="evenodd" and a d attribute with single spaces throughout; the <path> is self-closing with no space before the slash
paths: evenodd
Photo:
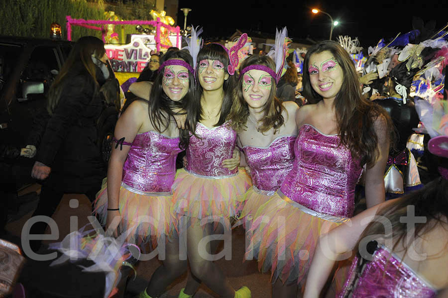
<path id="1" fill-rule="evenodd" d="M 271 94 L 274 79 L 265 71 L 252 69 L 243 75 L 242 95 L 249 107 L 260 108 Z"/>

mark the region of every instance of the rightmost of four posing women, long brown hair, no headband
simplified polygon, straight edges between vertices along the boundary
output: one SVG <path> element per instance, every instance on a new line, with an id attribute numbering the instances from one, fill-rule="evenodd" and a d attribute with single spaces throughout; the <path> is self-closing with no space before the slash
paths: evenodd
<path id="1" fill-rule="evenodd" d="M 307 52 L 296 114 L 295 161 L 280 189 L 247 229 L 259 268 L 271 271 L 273 297 L 296 297 L 321 234 L 353 216 L 354 189 L 366 164 L 367 206 L 384 201 L 391 121 L 362 99 L 347 52 L 324 41 Z"/>

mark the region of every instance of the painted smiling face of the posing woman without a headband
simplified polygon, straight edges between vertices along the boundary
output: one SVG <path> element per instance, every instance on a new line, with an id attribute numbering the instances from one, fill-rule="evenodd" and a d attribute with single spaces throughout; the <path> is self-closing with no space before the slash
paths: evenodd
<path id="1" fill-rule="evenodd" d="M 344 80 L 342 68 L 330 51 L 311 55 L 308 64 L 310 83 L 324 99 L 335 99 Z"/>

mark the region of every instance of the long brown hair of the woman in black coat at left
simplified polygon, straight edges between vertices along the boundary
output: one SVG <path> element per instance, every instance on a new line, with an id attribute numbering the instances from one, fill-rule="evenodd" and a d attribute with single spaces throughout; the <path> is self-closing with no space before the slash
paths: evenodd
<path id="1" fill-rule="evenodd" d="M 86 84 L 91 83 L 94 84 L 95 89 L 99 88 L 96 80 L 96 66 L 91 56 L 95 55 L 96 58 L 100 59 L 105 53 L 104 42 L 101 39 L 94 36 L 83 36 L 78 39 L 48 91 L 47 111 L 50 115 L 56 108 L 66 83 L 71 78 L 84 74 L 90 81 Z"/>

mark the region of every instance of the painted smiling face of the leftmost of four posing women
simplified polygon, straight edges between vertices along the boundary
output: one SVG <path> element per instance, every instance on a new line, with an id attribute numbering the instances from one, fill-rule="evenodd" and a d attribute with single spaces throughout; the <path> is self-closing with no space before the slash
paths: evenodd
<path id="1" fill-rule="evenodd" d="M 162 89 L 174 101 L 184 98 L 189 87 L 188 70 L 181 65 L 169 65 L 163 69 Z"/>

